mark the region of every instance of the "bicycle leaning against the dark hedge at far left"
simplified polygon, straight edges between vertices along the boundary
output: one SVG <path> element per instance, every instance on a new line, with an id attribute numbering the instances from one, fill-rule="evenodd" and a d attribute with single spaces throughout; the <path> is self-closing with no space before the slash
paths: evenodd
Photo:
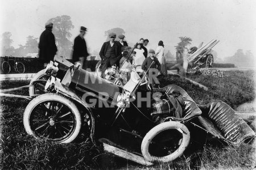
<path id="1" fill-rule="evenodd" d="M 13 62 L 10 62 L 10 61 L 13 61 Z M 11 65 L 11 63 L 13 63 L 13 65 Z M 3 61 L 3 63 L 2 63 L 3 73 L 6 73 L 6 74 L 10 73 L 11 67 L 13 67 L 14 70 L 18 73 L 25 72 L 24 64 L 20 61 L 17 61 L 17 58 L 15 58 L 13 56 L 9 56 L 9 57 L 7 57 L 7 61 Z"/>

